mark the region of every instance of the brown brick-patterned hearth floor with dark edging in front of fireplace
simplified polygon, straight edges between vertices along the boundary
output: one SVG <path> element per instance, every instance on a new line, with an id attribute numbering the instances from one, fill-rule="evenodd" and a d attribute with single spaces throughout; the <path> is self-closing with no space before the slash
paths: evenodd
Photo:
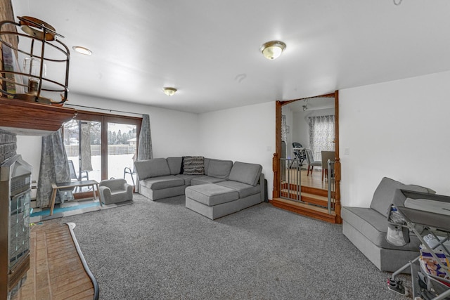
<path id="1" fill-rule="evenodd" d="M 30 270 L 25 284 L 11 300 L 96 297 L 98 289 L 94 290 L 94 284 L 84 268 L 84 259 L 77 252 L 76 240 L 72 239 L 68 226 L 49 222 L 32 226 Z"/>

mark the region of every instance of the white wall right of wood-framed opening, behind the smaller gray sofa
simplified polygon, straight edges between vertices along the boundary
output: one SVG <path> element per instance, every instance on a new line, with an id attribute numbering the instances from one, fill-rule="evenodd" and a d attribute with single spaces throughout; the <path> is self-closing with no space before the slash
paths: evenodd
<path id="1" fill-rule="evenodd" d="M 340 91 L 342 205 L 368 207 L 383 176 L 450 195 L 449 82 L 442 72 Z"/>

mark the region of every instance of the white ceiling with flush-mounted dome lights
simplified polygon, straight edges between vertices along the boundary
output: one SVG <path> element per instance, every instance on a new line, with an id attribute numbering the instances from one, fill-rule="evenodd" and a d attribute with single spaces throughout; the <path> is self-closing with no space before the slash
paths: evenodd
<path id="1" fill-rule="evenodd" d="M 53 25 L 69 48 L 94 52 L 72 51 L 70 93 L 185 112 L 450 70 L 448 0 L 13 0 L 13 8 Z M 259 47 L 274 39 L 287 48 L 266 60 Z M 166 96 L 163 86 L 178 92 Z"/>

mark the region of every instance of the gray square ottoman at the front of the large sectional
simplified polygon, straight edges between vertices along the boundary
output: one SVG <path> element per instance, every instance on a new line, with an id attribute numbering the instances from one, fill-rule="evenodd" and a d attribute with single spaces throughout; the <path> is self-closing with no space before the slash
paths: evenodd
<path id="1" fill-rule="evenodd" d="M 186 188 L 186 207 L 211 220 L 240 210 L 239 193 L 231 188 L 207 183 Z"/>

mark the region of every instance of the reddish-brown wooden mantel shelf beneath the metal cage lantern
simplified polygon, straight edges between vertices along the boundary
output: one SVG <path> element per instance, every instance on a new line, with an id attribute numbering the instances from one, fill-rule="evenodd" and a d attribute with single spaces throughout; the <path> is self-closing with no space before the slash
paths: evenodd
<path id="1" fill-rule="evenodd" d="M 76 115 L 77 110 L 60 105 L 0 98 L 0 127 L 57 131 Z"/>

